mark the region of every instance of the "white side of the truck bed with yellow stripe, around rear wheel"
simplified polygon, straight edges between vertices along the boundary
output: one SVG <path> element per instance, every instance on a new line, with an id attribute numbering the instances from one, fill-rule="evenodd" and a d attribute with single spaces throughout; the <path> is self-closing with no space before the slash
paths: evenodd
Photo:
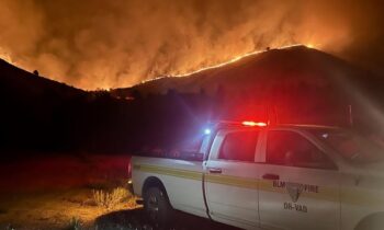
<path id="1" fill-rule="evenodd" d="M 203 194 L 202 161 L 159 157 L 133 157 L 133 185 L 136 195 L 151 180 L 161 181 L 174 209 L 207 217 Z"/>

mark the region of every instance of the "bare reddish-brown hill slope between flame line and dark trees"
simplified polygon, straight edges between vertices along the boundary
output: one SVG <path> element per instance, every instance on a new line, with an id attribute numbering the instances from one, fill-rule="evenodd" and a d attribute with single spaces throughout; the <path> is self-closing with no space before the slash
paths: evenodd
<path id="1" fill-rule="evenodd" d="M 115 92 L 129 94 L 136 90 L 147 94 L 166 93 L 169 89 L 179 92 L 199 92 L 204 89 L 214 93 L 218 87 L 230 92 L 244 92 L 264 91 L 279 85 L 321 87 L 329 83 L 340 87 L 359 83 L 365 87 L 376 80 L 372 78 L 375 77 L 338 57 L 305 46 L 294 46 L 251 55 L 187 77 L 165 77 L 132 88 L 117 89 Z"/>

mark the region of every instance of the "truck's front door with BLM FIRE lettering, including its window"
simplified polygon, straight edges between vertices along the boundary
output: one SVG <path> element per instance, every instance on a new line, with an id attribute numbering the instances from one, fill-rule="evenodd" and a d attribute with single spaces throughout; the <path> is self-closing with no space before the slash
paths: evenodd
<path id="1" fill-rule="evenodd" d="M 305 135 L 268 131 L 258 170 L 261 226 L 267 229 L 339 229 L 338 171 Z"/>

